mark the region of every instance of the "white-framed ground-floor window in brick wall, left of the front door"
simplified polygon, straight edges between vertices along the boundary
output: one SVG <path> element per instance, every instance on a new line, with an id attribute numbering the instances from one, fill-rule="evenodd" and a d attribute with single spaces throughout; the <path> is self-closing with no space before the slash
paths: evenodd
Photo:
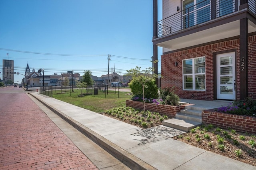
<path id="1" fill-rule="evenodd" d="M 205 90 L 205 57 L 182 61 L 183 90 Z"/>

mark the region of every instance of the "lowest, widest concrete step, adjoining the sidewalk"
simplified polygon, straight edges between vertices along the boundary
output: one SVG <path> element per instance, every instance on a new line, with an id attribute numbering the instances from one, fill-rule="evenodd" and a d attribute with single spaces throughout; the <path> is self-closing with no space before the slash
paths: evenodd
<path id="1" fill-rule="evenodd" d="M 197 127 L 201 124 L 202 123 L 199 123 L 196 121 L 183 120 L 183 119 L 178 119 L 178 118 L 162 121 L 162 125 L 164 125 L 164 126 L 171 127 L 174 129 L 185 131 L 185 132 L 188 132 L 188 131 L 190 131 L 190 129 Z"/>

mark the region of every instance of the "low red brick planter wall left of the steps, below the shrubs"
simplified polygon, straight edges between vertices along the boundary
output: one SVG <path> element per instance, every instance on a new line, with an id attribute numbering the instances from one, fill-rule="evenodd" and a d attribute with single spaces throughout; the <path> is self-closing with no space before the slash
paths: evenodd
<path id="1" fill-rule="evenodd" d="M 144 109 L 143 102 L 133 101 L 133 100 L 126 100 L 126 107 L 134 107 L 136 109 Z M 145 109 L 158 112 L 160 114 L 167 115 L 170 118 L 174 118 L 176 113 L 180 111 L 180 109 L 184 109 L 185 105 L 181 106 L 171 106 L 171 105 L 163 105 L 163 104 L 153 104 L 153 103 L 146 103 Z"/>

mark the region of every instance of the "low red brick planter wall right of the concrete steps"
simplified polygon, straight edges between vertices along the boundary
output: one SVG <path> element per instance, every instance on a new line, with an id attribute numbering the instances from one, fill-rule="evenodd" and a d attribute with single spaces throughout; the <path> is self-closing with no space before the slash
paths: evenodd
<path id="1" fill-rule="evenodd" d="M 202 111 L 202 121 L 218 127 L 230 127 L 236 131 L 256 134 L 256 117 L 252 116 L 232 115 L 210 109 Z"/>

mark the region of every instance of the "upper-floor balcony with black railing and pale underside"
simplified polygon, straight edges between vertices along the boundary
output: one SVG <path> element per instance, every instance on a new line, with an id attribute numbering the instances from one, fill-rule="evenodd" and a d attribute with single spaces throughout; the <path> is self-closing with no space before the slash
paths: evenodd
<path id="1" fill-rule="evenodd" d="M 250 14 L 248 33 L 256 31 L 256 2 L 248 0 L 248 8 L 239 9 L 238 0 L 204 0 L 186 6 L 168 18 L 158 21 L 158 38 L 153 44 L 170 50 L 238 36 L 239 20 Z M 247 16 L 246 16 L 247 17 Z"/>

